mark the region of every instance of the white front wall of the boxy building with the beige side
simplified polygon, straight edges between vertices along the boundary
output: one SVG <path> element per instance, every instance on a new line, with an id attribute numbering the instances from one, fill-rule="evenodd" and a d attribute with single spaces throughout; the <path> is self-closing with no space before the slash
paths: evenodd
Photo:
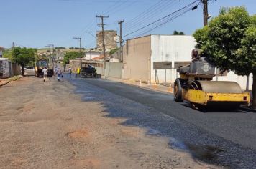
<path id="1" fill-rule="evenodd" d="M 190 62 L 191 52 L 195 48 L 196 41 L 192 36 L 179 35 L 152 35 L 151 49 L 153 62 L 172 62 L 173 69 L 157 70 L 157 77 L 159 83 L 174 83 L 178 77 L 176 69 L 174 69 L 175 62 Z M 155 83 L 155 70 L 151 66 L 151 82 Z"/>

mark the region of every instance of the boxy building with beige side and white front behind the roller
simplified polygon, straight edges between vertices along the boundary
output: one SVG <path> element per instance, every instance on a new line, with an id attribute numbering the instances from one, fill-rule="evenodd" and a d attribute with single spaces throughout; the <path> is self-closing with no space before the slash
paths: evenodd
<path id="1" fill-rule="evenodd" d="M 196 40 L 184 35 L 148 35 L 127 40 L 124 45 L 124 79 L 150 81 L 151 83 L 174 83 L 179 77 L 176 69 L 191 62 L 191 52 Z M 252 76 L 251 76 L 252 77 Z M 250 77 L 250 89 L 252 78 Z M 216 80 L 216 78 L 214 78 Z M 246 77 L 229 72 L 218 77 L 221 81 L 238 82 L 246 88 Z"/>

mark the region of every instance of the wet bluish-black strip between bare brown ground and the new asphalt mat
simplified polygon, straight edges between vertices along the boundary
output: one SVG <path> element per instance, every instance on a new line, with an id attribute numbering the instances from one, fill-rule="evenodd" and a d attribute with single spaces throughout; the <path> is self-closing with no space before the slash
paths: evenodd
<path id="1" fill-rule="evenodd" d="M 191 153 L 195 160 L 228 168 L 256 167 L 255 150 L 224 140 L 201 127 L 165 115 L 152 107 L 114 95 L 86 80 L 72 79 L 70 82 L 76 87 L 75 92 L 81 95 L 81 100 L 100 102 L 107 113 L 106 117 L 124 118 L 127 120 L 120 125 L 142 127 L 147 130 L 147 135 L 166 137 L 170 148 Z M 191 108 L 186 103 L 182 106 Z M 232 113 L 244 112 L 238 110 Z"/>

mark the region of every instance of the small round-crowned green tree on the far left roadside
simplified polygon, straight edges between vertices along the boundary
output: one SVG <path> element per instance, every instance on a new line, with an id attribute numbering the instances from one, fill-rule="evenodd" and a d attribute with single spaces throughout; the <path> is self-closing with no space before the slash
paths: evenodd
<path id="1" fill-rule="evenodd" d="M 22 67 L 22 75 L 24 75 L 24 66 L 35 60 L 37 49 L 26 47 L 14 47 L 12 50 L 13 61 Z"/>

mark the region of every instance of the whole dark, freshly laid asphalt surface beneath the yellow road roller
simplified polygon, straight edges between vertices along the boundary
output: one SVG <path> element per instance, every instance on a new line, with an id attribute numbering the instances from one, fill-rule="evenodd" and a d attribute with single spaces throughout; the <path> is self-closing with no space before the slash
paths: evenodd
<path id="1" fill-rule="evenodd" d="M 84 101 L 102 103 L 108 117 L 122 125 L 145 127 L 148 135 L 170 139 L 170 148 L 196 160 L 228 168 L 256 168 L 256 114 L 200 112 L 173 96 L 104 79 L 68 79 Z"/>

